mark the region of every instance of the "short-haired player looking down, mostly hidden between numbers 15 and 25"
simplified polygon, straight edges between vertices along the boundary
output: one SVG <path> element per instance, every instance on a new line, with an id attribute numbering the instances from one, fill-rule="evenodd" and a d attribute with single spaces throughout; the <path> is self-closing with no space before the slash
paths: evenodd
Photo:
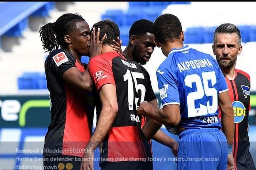
<path id="1" fill-rule="evenodd" d="M 129 42 L 124 50 L 124 55 L 141 65 L 146 64 L 155 48 L 154 38 L 153 22 L 147 19 L 135 21 L 129 30 Z M 155 107 L 158 108 L 157 101 L 154 103 L 156 104 Z M 145 122 L 146 117 L 142 116 L 142 126 Z M 161 129 L 158 130 L 153 139 L 171 148 L 173 155 L 177 157 L 178 143 L 167 136 Z"/>

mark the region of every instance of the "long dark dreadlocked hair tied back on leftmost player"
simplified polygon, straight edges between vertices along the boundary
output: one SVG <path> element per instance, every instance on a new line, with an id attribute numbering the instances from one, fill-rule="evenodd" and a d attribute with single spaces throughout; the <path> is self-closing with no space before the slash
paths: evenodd
<path id="1" fill-rule="evenodd" d="M 54 23 L 47 23 L 40 27 L 39 33 L 45 52 L 52 52 L 54 49 L 67 47 L 64 35 L 76 29 L 76 22 L 85 20 L 78 14 L 63 14 Z"/>

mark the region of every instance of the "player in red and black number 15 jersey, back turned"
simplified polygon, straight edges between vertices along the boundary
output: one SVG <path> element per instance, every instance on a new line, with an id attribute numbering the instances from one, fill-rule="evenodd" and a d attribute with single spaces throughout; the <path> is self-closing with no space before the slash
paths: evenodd
<path id="1" fill-rule="evenodd" d="M 102 54 L 91 59 L 89 73 L 99 92 L 102 109 L 95 131 L 86 146 L 81 170 L 93 169 L 93 151 L 102 142 L 100 166 L 102 170 L 153 169 L 147 137 L 153 136 L 161 124 L 148 120 L 142 132 L 141 117 L 136 109 L 141 101 L 156 102 L 150 76 L 137 62 L 117 53 L 110 46 L 120 31 L 116 23 L 103 20 L 94 24 L 100 28 Z M 150 124 L 151 126 L 147 126 Z M 144 135 L 145 134 L 145 135 Z"/>

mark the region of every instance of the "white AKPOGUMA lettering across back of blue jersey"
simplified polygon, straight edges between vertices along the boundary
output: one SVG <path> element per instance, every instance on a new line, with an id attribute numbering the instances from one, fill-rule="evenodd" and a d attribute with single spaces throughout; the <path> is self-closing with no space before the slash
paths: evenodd
<path id="1" fill-rule="evenodd" d="M 184 61 L 181 63 L 177 63 L 177 66 L 180 69 L 180 72 L 202 67 L 213 67 L 208 59 Z"/>

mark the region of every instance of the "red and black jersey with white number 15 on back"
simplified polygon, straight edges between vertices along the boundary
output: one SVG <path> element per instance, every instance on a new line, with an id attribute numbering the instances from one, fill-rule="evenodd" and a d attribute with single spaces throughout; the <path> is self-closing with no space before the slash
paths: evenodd
<path id="1" fill-rule="evenodd" d="M 104 84 L 116 86 L 118 113 L 103 140 L 101 160 L 151 158 L 150 146 L 141 130 L 142 118 L 136 114 L 140 102 L 156 99 L 146 69 L 116 52 L 107 52 L 91 59 L 89 73 L 98 91 Z"/>

